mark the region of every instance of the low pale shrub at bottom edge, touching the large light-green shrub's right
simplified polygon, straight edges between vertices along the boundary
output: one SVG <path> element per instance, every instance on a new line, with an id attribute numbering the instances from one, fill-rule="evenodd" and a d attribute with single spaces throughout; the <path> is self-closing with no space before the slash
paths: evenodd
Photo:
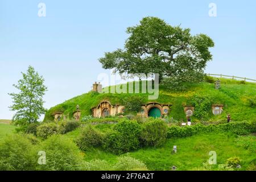
<path id="1" fill-rule="evenodd" d="M 82 163 L 81 169 L 84 171 L 109 171 L 112 169 L 112 166 L 106 160 L 96 159 Z"/>

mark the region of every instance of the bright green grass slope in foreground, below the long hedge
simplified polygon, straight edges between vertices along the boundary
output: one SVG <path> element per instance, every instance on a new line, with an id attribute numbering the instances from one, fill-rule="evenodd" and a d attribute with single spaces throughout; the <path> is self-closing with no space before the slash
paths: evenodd
<path id="1" fill-rule="evenodd" d="M 104 130 L 113 126 L 105 124 L 97 127 Z M 81 128 L 66 134 L 66 136 L 75 140 L 80 131 Z M 217 164 L 224 164 L 226 159 L 238 156 L 242 159 L 241 170 L 246 170 L 253 160 L 255 162 L 256 153 L 246 150 L 244 147 L 238 147 L 236 139 L 237 135 L 231 133 L 210 133 L 188 138 L 173 138 L 168 139 L 162 147 L 142 148 L 129 152 L 128 155 L 142 160 L 150 170 L 169 170 L 172 166 L 178 167 L 178 170 L 198 170 L 203 168 L 203 163 L 210 158 L 209 151 L 216 151 Z M 177 146 L 177 154 L 171 154 L 174 145 Z M 110 164 L 114 164 L 117 162 L 117 155 L 94 148 L 92 151 L 85 152 L 85 160 L 93 159 L 106 160 Z"/>

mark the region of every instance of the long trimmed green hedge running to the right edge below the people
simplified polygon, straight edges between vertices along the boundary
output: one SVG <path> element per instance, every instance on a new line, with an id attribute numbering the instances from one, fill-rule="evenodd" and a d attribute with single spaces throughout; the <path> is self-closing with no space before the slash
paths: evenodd
<path id="1" fill-rule="evenodd" d="M 209 132 L 232 132 L 238 135 L 247 135 L 256 132 L 255 122 L 231 122 L 220 125 L 192 125 L 192 126 L 171 126 L 168 128 L 167 138 L 172 137 L 190 137 L 199 133 Z"/>

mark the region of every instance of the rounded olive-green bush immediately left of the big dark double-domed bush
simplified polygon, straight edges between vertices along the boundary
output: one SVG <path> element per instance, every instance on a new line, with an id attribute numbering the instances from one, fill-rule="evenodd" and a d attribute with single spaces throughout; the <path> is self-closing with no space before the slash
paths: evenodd
<path id="1" fill-rule="evenodd" d="M 76 143 L 81 150 L 86 151 L 92 147 L 100 146 L 102 143 L 102 138 L 103 135 L 99 130 L 95 129 L 91 125 L 88 125 L 81 131 Z"/>

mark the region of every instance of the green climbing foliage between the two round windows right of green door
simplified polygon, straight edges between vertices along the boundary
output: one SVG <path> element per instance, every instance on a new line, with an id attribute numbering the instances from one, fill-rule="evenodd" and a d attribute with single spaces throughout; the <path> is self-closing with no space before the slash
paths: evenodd
<path id="1" fill-rule="evenodd" d="M 194 96 L 191 99 L 191 103 L 195 106 L 193 116 L 196 118 L 207 118 L 211 109 L 210 97 L 209 96 Z"/>

